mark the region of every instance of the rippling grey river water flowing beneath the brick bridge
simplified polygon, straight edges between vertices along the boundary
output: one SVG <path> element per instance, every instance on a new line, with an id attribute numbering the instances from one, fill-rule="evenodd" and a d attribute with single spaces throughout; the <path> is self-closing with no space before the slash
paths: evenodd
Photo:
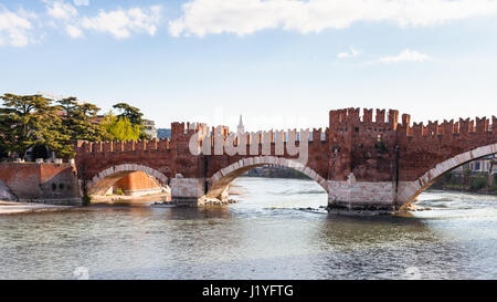
<path id="1" fill-rule="evenodd" d="M 0 279 L 497 279 L 497 197 L 430 191 L 429 211 L 348 217 L 319 208 L 314 181 L 236 185 L 224 207 L 0 216 Z"/>

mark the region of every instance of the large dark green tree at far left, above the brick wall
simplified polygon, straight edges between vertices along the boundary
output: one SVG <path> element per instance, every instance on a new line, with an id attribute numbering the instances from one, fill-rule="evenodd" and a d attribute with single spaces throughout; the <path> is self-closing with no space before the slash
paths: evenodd
<path id="1" fill-rule="evenodd" d="M 4 94 L 0 97 L 0 127 L 4 140 L 3 153 L 23 155 L 34 145 L 44 145 L 61 157 L 74 155 L 66 144 L 70 136 L 65 134 L 57 107 L 52 101 L 41 95 Z"/>

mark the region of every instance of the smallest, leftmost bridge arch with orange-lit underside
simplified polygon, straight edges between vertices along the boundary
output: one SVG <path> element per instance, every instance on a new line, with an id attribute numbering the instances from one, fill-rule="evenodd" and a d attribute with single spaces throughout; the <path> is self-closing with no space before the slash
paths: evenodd
<path id="1" fill-rule="evenodd" d="M 142 171 L 154 177 L 161 187 L 168 186 L 168 177 L 154 168 L 138 164 L 121 164 L 106 168 L 88 180 L 86 183 L 87 192 L 104 195 L 119 179 L 134 171 Z"/>

